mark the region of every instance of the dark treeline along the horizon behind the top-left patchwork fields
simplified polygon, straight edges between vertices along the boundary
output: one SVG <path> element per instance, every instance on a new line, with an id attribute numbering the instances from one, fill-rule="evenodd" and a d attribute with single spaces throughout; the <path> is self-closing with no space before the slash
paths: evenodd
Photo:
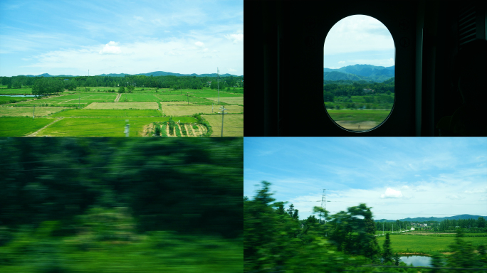
<path id="1" fill-rule="evenodd" d="M 172 89 L 201 89 L 202 87 L 218 87 L 216 77 L 196 77 L 196 76 L 157 76 L 147 77 L 145 75 L 125 75 L 125 77 L 110 76 L 78 76 L 78 77 L 0 77 L 1 85 L 7 85 L 9 88 L 31 87 L 39 79 L 52 79 L 63 81 L 66 89 L 68 86 L 85 86 L 85 87 L 158 87 Z M 224 90 L 230 87 L 244 87 L 244 77 L 220 77 L 219 87 Z M 209 83 L 211 82 L 211 84 Z"/>

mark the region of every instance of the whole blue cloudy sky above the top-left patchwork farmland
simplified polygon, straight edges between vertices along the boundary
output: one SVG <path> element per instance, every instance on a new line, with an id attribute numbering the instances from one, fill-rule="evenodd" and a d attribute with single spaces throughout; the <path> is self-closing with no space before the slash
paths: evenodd
<path id="1" fill-rule="evenodd" d="M 0 1 L 0 76 L 244 75 L 244 1 Z"/>

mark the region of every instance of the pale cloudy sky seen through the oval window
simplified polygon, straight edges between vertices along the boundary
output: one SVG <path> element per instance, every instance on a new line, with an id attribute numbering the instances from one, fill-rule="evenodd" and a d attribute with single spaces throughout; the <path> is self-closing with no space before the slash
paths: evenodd
<path id="1" fill-rule="evenodd" d="M 347 16 L 335 23 L 326 36 L 323 67 L 389 67 L 395 64 L 394 52 L 391 33 L 383 23 L 371 16 Z"/>

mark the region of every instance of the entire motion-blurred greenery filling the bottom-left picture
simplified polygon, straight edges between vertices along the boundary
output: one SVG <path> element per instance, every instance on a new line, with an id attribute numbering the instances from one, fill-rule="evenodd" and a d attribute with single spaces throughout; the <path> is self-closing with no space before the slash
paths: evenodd
<path id="1" fill-rule="evenodd" d="M 0 139 L 0 272 L 242 272 L 243 139 Z"/>

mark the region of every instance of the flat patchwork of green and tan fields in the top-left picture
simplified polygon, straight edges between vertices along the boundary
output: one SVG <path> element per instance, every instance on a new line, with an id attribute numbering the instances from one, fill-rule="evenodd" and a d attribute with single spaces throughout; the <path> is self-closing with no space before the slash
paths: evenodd
<path id="1" fill-rule="evenodd" d="M 219 107 L 224 105 L 228 109 L 227 112 L 237 114 L 226 116 L 229 119 L 225 120 L 225 126 L 229 128 L 224 128 L 224 135 L 226 137 L 244 137 L 243 114 L 238 114 L 244 112 L 243 89 L 236 88 L 235 92 L 221 91 L 220 105 L 217 105 L 216 102 L 218 92 L 206 87 L 202 90 L 156 90 L 153 87 L 143 89 L 137 87 L 132 93 L 122 94 L 118 102 L 115 102 L 115 99 L 119 94 L 108 92 L 118 90 L 113 87 L 77 87 L 75 91 L 65 91 L 61 95 L 22 98 L 21 102 L 0 107 L 0 117 L 31 117 L 33 106 L 37 106 L 36 117 L 48 117 L 48 119 L 36 118 L 35 122 L 19 119 L 21 120 L 21 124 L 17 126 L 19 128 L 14 127 L 15 122 L 11 122 L 13 119 L 3 119 L 0 122 L 1 129 L 15 130 L 0 134 L 4 137 L 23 137 L 33 132 L 36 132 L 33 134 L 34 137 L 124 137 L 125 119 L 130 119 L 134 121 L 133 124 L 130 124 L 130 136 L 143 137 L 150 130 L 148 124 L 167 121 L 169 118 L 162 116 L 173 116 L 174 120 L 191 123 L 197 122 L 196 119 L 190 117 L 197 113 L 210 114 L 207 116 L 210 119 L 209 124 L 215 124 L 218 129 L 221 129 L 221 123 L 217 122 L 221 117 L 212 117 L 211 107 L 213 106 L 213 112 L 216 113 L 219 111 Z M 25 93 L 31 92 L 31 89 L 7 90 L 1 88 L 1 91 Z M 2 100 L 9 101 L 11 97 L 0 98 L 0 102 Z M 38 129 L 50 122 L 53 124 L 38 132 Z M 234 127 L 232 124 L 236 124 L 235 127 L 238 128 L 230 129 Z M 198 126 L 204 127 L 204 125 Z M 206 127 L 200 129 L 206 130 Z M 179 134 L 184 134 L 184 130 Z M 187 134 L 192 136 L 192 130 Z M 213 134 L 213 136 L 219 137 L 219 134 Z"/>

